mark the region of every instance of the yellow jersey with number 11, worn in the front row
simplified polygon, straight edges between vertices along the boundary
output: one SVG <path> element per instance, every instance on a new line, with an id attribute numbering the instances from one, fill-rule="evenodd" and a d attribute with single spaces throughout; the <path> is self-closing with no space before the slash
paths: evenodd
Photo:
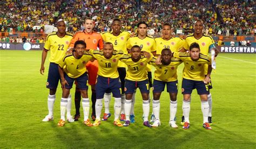
<path id="1" fill-rule="evenodd" d="M 140 56 L 138 62 L 133 62 L 131 55 L 124 55 L 120 58 L 122 62 L 124 62 L 128 69 L 126 73 L 125 79 L 132 81 L 142 81 L 147 79 L 147 71 L 146 66 L 147 63 L 150 62 L 153 55 L 151 54 L 150 58 Z"/>

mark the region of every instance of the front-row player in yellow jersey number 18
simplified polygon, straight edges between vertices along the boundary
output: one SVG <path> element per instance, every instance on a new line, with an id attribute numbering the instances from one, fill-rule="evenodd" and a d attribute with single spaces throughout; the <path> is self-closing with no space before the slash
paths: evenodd
<path id="1" fill-rule="evenodd" d="M 99 71 L 96 83 L 96 120 L 93 126 L 100 125 L 100 114 L 102 113 L 102 100 L 106 91 L 111 91 L 114 97 L 114 125 L 122 127 L 119 116 L 122 109 L 121 103 L 121 83 L 117 72 L 119 59 L 123 56 L 123 51 L 113 51 L 113 44 L 106 42 L 103 51 L 91 51 L 93 57 L 98 60 Z"/>

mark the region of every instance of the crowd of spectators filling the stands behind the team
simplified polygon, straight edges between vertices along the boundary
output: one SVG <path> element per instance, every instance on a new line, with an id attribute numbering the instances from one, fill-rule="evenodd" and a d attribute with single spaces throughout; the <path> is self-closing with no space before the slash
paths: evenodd
<path id="1" fill-rule="evenodd" d="M 86 17 L 95 20 L 95 30 L 109 31 L 113 18 L 123 22 L 122 29 L 136 31 L 139 21 L 149 23 L 149 33 L 159 33 L 161 25 L 171 23 L 173 32 L 193 32 L 196 19 L 203 19 L 207 34 L 254 35 L 254 1 L 218 2 L 215 5 L 221 16 L 208 1 L 46 1 L 46 0 L 4 0 L 0 2 L 0 29 L 15 31 L 44 32 L 44 25 L 55 24 L 57 19 L 67 21 L 68 31 L 83 30 Z M 255 7 L 255 6 L 254 6 Z M 255 10 L 255 9 L 254 9 Z M 221 19 L 220 19 L 221 18 Z M 40 26 L 33 28 L 33 26 Z"/>

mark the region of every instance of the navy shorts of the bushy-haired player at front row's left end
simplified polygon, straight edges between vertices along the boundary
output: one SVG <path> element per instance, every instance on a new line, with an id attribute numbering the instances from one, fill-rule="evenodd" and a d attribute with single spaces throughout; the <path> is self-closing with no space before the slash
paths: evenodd
<path id="1" fill-rule="evenodd" d="M 82 76 L 80 76 L 78 78 L 71 78 L 68 75 L 66 75 L 66 73 L 64 73 L 64 77 L 65 77 L 66 81 L 69 84 L 69 85 L 65 85 L 66 89 L 72 89 L 73 83 L 76 80 L 77 87 L 80 90 L 88 90 L 88 86 L 87 86 L 87 80 L 88 80 L 87 72 L 85 72 Z"/>

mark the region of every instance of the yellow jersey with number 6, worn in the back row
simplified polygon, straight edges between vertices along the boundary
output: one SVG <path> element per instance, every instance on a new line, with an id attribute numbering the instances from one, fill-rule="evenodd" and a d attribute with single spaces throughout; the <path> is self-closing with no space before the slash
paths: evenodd
<path id="1" fill-rule="evenodd" d="M 114 50 L 123 50 L 127 53 L 126 42 L 130 38 L 131 33 L 127 31 L 121 31 L 118 36 L 114 36 L 112 32 L 100 33 L 104 42 L 111 42 Z M 126 65 L 121 61 L 118 62 L 118 67 L 125 67 Z"/>

